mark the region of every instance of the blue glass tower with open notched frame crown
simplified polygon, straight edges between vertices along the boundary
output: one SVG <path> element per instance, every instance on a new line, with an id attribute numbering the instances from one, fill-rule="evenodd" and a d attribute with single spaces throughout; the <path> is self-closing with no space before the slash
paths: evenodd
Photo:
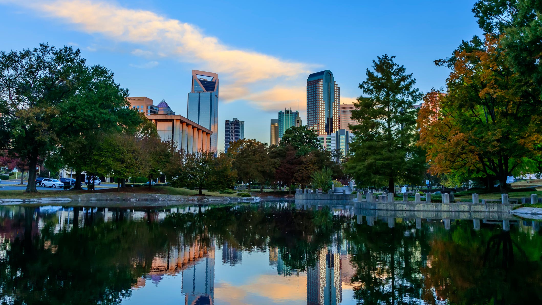
<path id="1" fill-rule="evenodd" d="M 218 150 L 218 74 L 192 70 L 189 120 L 212 131 L 210 150 Z"/>

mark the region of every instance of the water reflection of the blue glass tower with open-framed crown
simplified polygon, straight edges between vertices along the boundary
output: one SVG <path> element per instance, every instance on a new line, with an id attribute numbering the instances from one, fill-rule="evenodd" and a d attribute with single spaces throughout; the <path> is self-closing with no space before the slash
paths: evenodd
<path id="1" fill-rule="evenodd" d="M 215 297 L 215 246 L 209 246 L 209 253 L 183 271 L 182 293 L 185 305 L 207 305 Z"/>

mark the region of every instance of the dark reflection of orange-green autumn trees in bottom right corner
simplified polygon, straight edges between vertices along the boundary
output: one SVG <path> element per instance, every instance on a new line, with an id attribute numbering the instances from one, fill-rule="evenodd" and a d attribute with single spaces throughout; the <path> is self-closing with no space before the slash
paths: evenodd
<path id="1" fill-rule="evenodd" d="M 524 304 L 542 299 L 542 244 L 525 231 L 475 231 L 470 221 L 435 231 L 424 300 L 434 304 Z"/>

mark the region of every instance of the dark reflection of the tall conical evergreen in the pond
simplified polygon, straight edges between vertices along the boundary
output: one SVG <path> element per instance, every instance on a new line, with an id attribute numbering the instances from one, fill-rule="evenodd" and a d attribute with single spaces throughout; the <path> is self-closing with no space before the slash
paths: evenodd
<path id="1" fill-rule="evenodd" d="M 352 242 L 354 298 L 363 304 L 411 304 L 421 300 L 422 274 L 429 246 L 425 230 L 409 222 L 354 225 L 345 238 Z M 415 303 L 415 302 L 414 302 Z"/>

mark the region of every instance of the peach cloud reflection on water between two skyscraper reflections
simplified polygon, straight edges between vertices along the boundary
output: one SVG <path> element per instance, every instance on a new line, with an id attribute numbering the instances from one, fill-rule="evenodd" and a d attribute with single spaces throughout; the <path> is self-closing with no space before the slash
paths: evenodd
<path id="1" fill-rule="evenodd" d="M 306 302 L 307 276 L 284 277 L 276 275 L 261 275 L 256 278 L 248 278 L 249 284 L 233 286 L 230 283 L 217 283 L 215 285 L 215 302 L 225 304 L 249 304 L 250 295 L 259 298 L 259 304 L 274 304 L 276 302 Z"/>

